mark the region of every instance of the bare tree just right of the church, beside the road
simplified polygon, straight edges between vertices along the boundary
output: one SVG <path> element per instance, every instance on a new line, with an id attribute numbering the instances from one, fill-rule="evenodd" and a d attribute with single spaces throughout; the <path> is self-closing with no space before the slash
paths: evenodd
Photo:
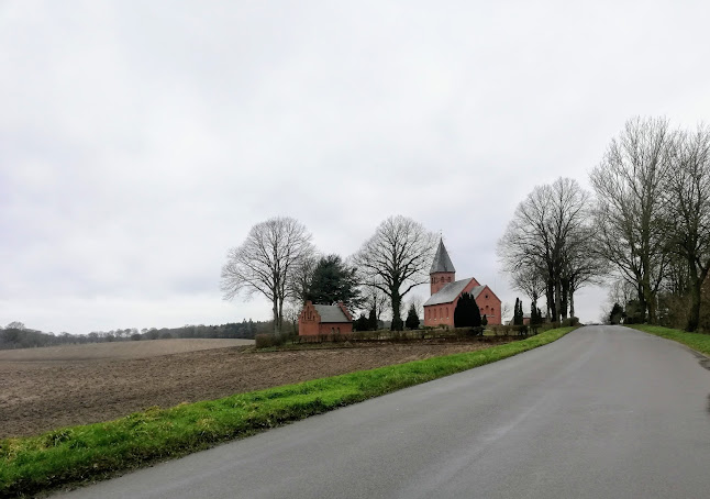
<path id="1" fill-rule="evenodd" d="M 581 251 L 588 247 L 589 208 L 590 196 L 576 180 L 558 178 L 537 186 L 518 204 L 498 242 L 498 257 L 518 289 L 530 291 L 515 284 L 517 276 L 524 280 L 521 271 L 543 276 L 548 317 L 555 321 L 567 317 L 572 295 L 588 282 L 576 274 L 581 275 L 583 265 L 591 267 L 585 258 L 592 255 Z"/>

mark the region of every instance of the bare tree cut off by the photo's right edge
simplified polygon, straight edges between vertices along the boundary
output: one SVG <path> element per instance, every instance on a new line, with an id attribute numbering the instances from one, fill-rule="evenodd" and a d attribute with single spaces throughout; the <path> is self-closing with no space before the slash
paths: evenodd
<path id="1" fill-rule="evenodd" d="M 710 270 L 710 127 L 701 125 L 695 134 L 679 134 L 663 190 L 670 248 L 686 263 L 686 268 L 675 273 L 685 274 L 680 277 L 687 278 L 690 295 L 686 330 L 696 331 L 702 284 Z M 675 280 L 684 287 L 683 279 Z"/>

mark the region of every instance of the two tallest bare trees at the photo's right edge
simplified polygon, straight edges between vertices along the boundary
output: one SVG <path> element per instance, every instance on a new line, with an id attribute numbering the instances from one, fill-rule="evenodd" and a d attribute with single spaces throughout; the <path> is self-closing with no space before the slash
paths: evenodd
<path id="1" fill-rule="evenodd" d="M 642 313 L 657 323 L 667 312 L 662 296 L 675 297 L 696 331 L 710 269 L 710 129 L 631 120 L 591 182 L 599 250 L 634 288 Z"/>

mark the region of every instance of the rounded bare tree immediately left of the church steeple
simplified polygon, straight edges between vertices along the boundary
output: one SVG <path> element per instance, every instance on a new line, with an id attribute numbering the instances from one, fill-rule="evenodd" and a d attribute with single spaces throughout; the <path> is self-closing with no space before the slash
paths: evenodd
<path id="1" fill-rule="evenodd" d="M 402 297 L 415 286 L 429 282 L 435 236 L 422 224 L 402 215 L 379 224 L 369 240 L 353 256 L 353 262 L 368 286 L 381 290 L 392 308 L 392 329 L 401 330 Z"/>

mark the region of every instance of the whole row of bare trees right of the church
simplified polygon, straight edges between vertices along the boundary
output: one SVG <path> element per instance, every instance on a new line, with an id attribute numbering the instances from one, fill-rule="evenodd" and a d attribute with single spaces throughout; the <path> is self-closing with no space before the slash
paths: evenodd
<path id="1" fill-rule="evenodd" d="M 533 310 L 544 296 L 561 320 L 574 315 L 581 286 L 615 281 L 634 320 L 698 330 L 710 270 L 710 127 L 630 120 L 590 182 L 593 196 L 559 178 L 518 206 L 498 244 L 513 286 Z"/>

